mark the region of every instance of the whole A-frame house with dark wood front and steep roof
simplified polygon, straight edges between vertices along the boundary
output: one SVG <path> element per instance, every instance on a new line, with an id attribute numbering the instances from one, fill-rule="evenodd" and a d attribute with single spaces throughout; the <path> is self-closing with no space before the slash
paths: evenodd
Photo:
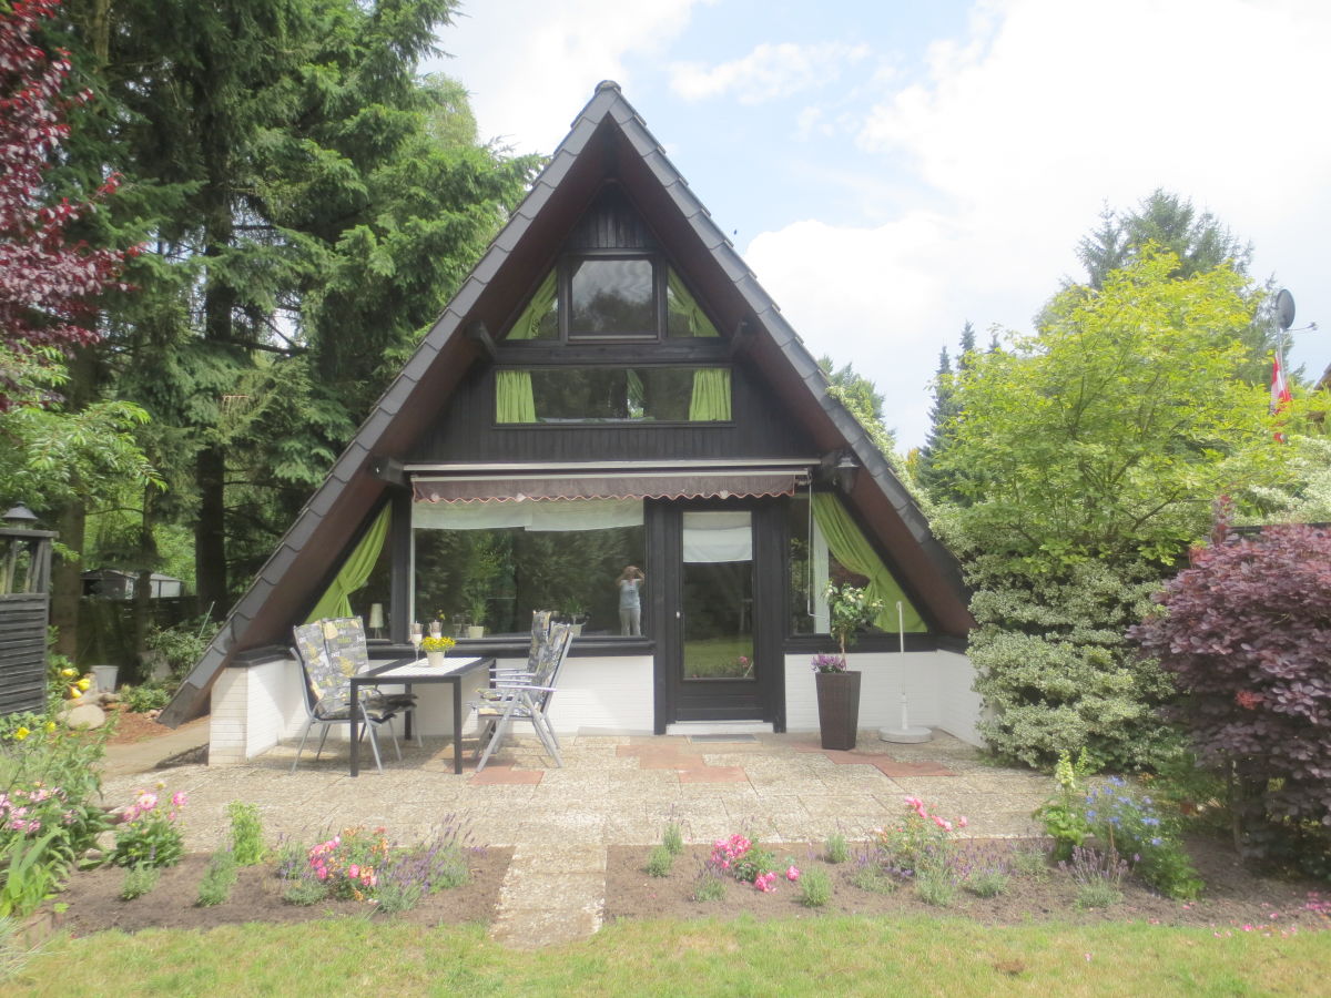
<path id="1" fill-rule="evenodd" d="M 853 652 L 861 727 L 894 727 L 906 693 L 913 724 L 974 740 L 954 560 L 603 83 L 164 720 L 210 697 L 214 764 L 297 732 L 290 629 L 346 593 L 382 617 L 382 657 L 413 620 L 471 625 L 459 651 L 502 660 L 532 609 L 584 619 L 559 731 L 812 729 L 829 579 L 886 607 Z"/>

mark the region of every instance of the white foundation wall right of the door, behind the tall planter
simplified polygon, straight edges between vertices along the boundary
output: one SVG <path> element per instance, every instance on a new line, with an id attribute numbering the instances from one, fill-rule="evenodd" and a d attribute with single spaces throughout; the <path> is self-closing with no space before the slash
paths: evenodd
<path id="1" fill-rule="evenodd" d="M 819 729 L 819 701 L 809 655 L 785 656 L 785 728 Z M 905 691 L 912 727 L 941 728 L 972 745 L 980 744 L 976 721 L 980 697 L 970 691 L 974 669 L 956 652 L 851 652 L 860 679 L 860 728 L 901 725 Z"/>

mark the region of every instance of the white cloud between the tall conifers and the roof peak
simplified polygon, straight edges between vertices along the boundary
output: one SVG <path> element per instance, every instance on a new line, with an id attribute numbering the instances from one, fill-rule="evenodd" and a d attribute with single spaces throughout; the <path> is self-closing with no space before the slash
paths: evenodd
<path id="1" fill-rule="evenodd" d="M 709 0 L 479 0 L 445 31 L 455 59 L 430 69 L 466 83 L 482 134 L 548 153 L 596 84 L 632 83 L 631 53 L 664 51 Z"/>

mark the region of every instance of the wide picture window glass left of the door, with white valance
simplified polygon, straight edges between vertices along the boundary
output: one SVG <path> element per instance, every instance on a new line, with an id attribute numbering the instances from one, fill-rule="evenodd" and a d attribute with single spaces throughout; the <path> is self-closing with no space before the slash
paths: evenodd
<path id="1" fill-rule="evenodd" d="M 414 619 L 490 635 L 527 632 L 534 609 L 618 635 L 616 580 L 644 562 L 636 499 L 417 503 L 411 534 Z"/>

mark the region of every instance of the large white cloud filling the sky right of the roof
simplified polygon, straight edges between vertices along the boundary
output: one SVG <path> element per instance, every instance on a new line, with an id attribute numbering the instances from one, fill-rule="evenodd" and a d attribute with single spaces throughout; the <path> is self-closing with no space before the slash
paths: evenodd
<path id="1" fill-rule="evenodd" d="M 799 222 L 755 238 L 749 262 L 815 351 L 888 390 L 910 444 L 962 321 L 1029 327 L 1102 205 L 1157 186 L 1252 240 L 1255 273 L 1295 287 L 1300 322 L 1331 325 L 1315 273 L 1331 222 L 1328 56 L 1320 3 L 984 4 L 966 39 L 930 47 L 924 79 L 896 81 L 861 120 L 860 146 L 909 164 L 930 210 Z"/>

